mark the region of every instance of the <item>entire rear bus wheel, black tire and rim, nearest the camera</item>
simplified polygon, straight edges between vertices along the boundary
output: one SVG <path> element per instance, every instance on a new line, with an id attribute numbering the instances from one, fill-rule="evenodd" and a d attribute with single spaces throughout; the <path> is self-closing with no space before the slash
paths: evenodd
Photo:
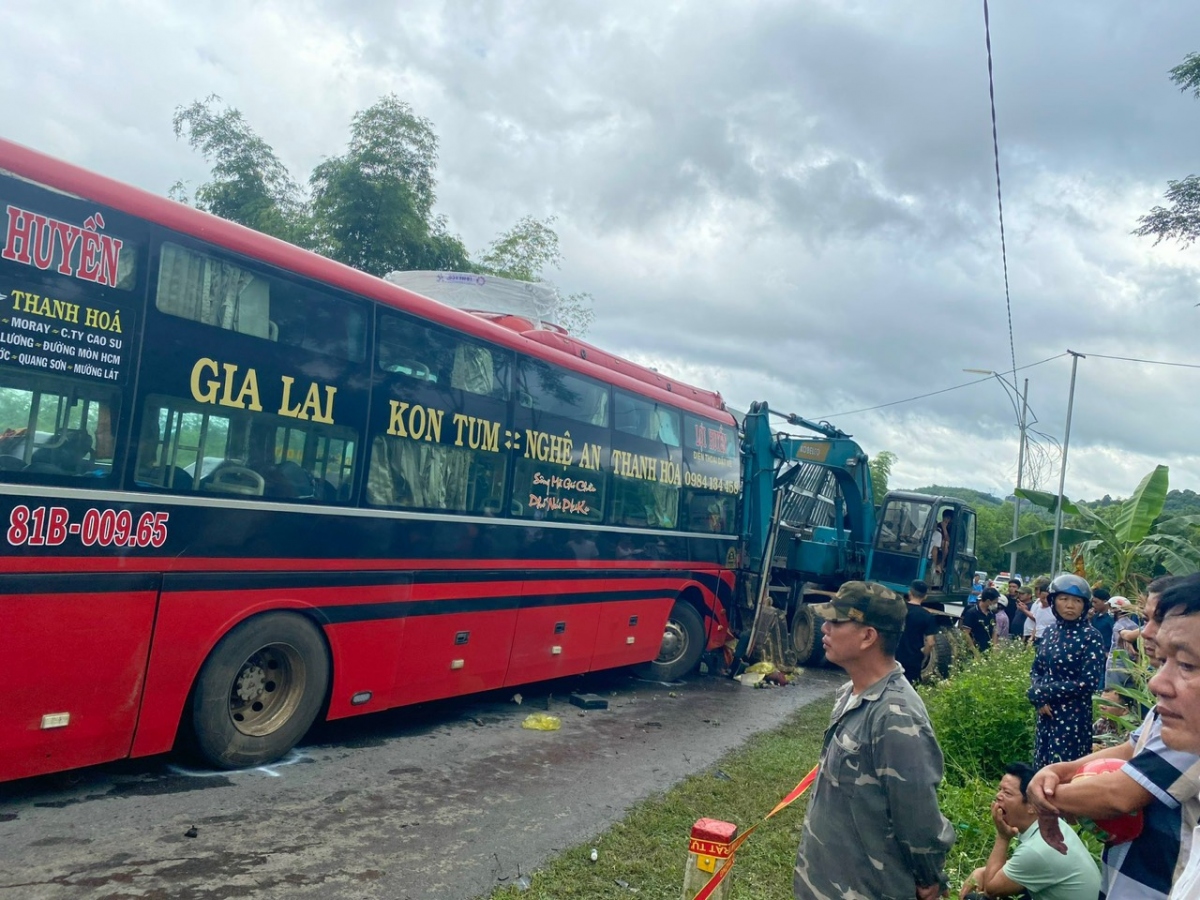
<path id="1" fill-rule="evenodd" d="M 304 616 L 242 622 L 205 660 L 192 700 L 197 752 L 222 769 L 262 766 L 305 736 L 325 703 L 329 653 Z"/>

